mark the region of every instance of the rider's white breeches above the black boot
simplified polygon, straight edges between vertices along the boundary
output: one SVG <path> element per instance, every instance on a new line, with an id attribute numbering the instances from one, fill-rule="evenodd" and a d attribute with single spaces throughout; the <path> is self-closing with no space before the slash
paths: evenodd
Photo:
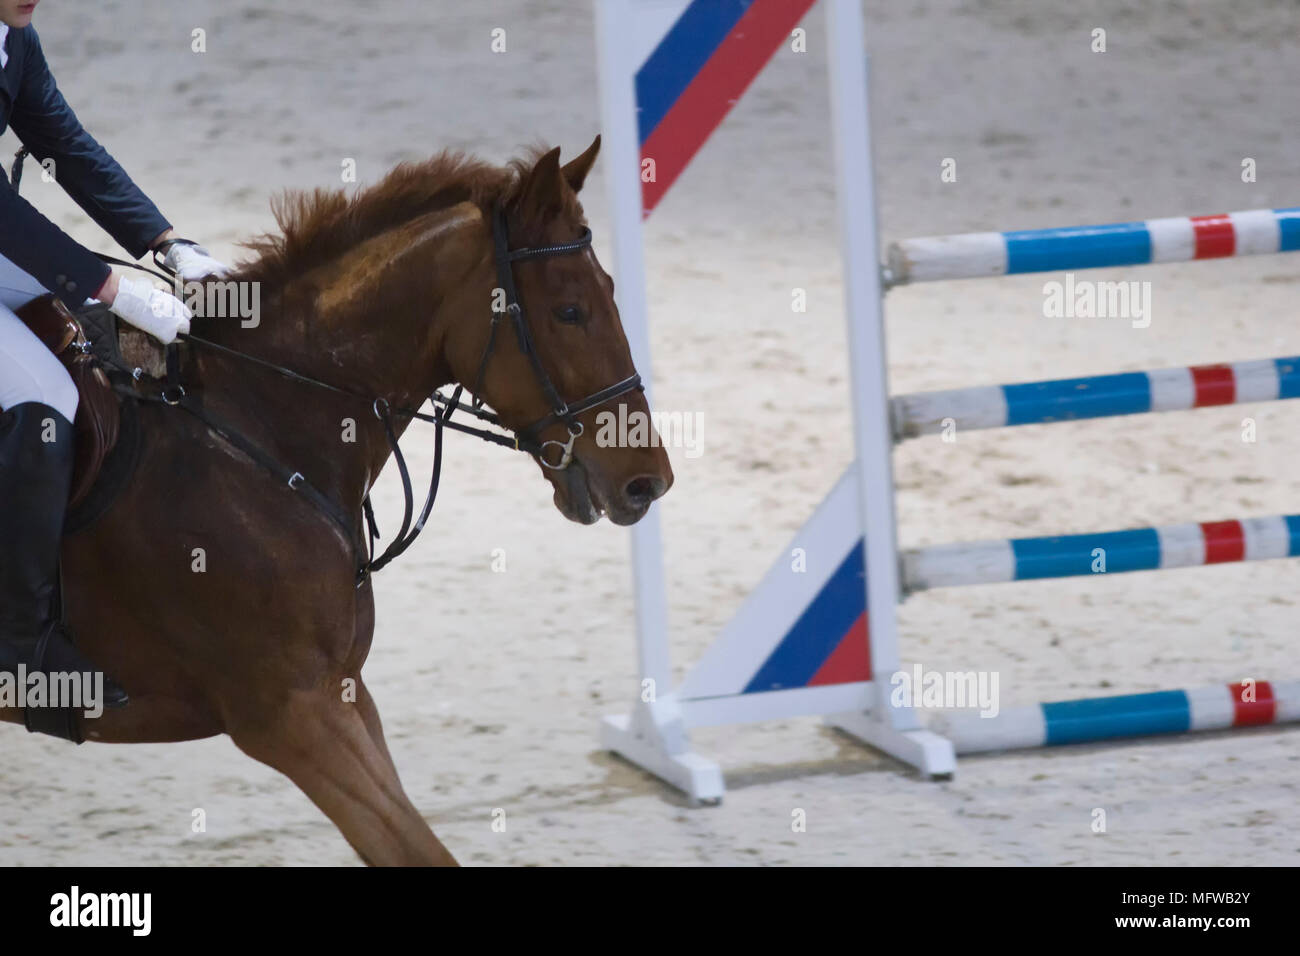
<path id="1" fill-rule="evenodd" d="M 77 414 L 72 376 L 14 315 L 46 294 L 40 282 L 0 255 L 0 411 L 40 402 L 72 421 Z"/>

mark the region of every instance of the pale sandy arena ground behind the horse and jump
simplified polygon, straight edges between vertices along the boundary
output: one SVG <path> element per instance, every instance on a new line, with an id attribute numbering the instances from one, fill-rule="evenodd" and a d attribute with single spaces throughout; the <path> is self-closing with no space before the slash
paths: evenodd
<path id="1" fill-rule="evenodd" d="M 884 237 L 1294 206 L 1294 5 L 1130 7 L 867 3 Z M 498 26 L 503 56 L 489 52 Z M 679 672 L 852 455 L 819 10 L 807 26 L 809 53 L 776 57 L 647 232 L 659 405 L 706 421 L 706 453 L 676 457 L 662 507 Z M 270 194 L 337 183 L 344 157 L 374 181 L 442 147 L 572 152 L 598 129 L 586 0 L 49 0 L 38 27 L 87 125 L 224 256 L 268 228 Z M 1109 52 L 1089 51 L 1095 27 Z M 945 157 L 956 183 L 939 179 Z M 1257 182 L 1242 182 L 1243 157 Z M 55 187 L 25 190 L 107 248 Z M 607 248 L 599 177 L 586 203 Z M 1034 277 L 900 290 L 892 385 L 1300 352 L 1296 264 L 1097 274 L 1153 284 L 1144 330 L 1043 319 Z M 805 315 L 793 287 L 809 290 Z M 1278 403 L 918 441 L 896 455 L 902 541 L 1295 511 L 1297 425 Z M 426 466 L 428 438 L 412 438 Z M 597 749 L 598 717 L 634 692 L 627 532 L 564 522 L 533 466 L 450 442 L 429 532 L 380 578 L 367 679 L 407 790 L 465 862 L 1300 862 L 1294 730 L 970 758 L 936 784 L 815 719 L 716 728 L 697 749 L 723 761 L 728 796 L 690 809 Z M 396 509 L 391 484 L 380 506 Z M 506 574 L 489 570 L 494 548 Z M 1017 702 L 1294 676 L 1297 574 L 1274 562 L 919 596 L 901 611 L 904 656 L 996 669 Z M 0 864 L 355 862 L 228 740 L 74 750 L 3 734 Z M 1098 806 L 1105 835 L 1089 827 Z M 203 835 L 188 834 L 194 808 Z M 792 834 L 794 808 L 807 832 Z"/>

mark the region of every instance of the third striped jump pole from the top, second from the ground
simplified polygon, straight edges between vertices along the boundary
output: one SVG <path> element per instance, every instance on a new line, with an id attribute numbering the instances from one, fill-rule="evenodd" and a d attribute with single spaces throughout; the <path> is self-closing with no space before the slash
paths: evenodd
<path id="1" fill-rule="evenodd" d="M 1300 557 L 1300 515 L 920 548 L 902 554 L 909 592 L 962 584 L 1156 571 Z"/>

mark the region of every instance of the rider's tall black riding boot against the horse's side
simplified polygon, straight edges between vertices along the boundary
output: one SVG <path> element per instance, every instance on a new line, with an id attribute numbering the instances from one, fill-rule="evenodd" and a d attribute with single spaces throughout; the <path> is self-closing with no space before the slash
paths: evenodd
<path id="1" fill-rule="evenodd" d="M 0 672 L 17 675 L 18 665 L 27 674 L 99 671 L 73 646 L 53 606 L 72 473 L 68 419 L 38 402 L 0 414 Z M 103 696 L 109 708 L 127 700 L 107 676 Z M 72 708 L 26 708 L 23 719 L 30 731 L 81 743 L 73 715 Z"/>

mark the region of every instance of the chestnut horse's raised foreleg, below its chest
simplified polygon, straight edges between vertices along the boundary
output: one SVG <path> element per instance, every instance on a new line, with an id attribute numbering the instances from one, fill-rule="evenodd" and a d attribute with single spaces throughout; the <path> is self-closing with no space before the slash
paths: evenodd
<path id="1" fill-rule="evenodd" d="M 361 695 L 359 695 L 360 697 Z M 364 700 L 373 710 L 373 702 Z M 378 714 L 374 714 L 377 727 Z M 269 722 L 230 731 L 240 750 L 285 774 L 372 866 L 455 866 L 376 744 L 361 709 L 333 693 L 294 695 Z"/>

